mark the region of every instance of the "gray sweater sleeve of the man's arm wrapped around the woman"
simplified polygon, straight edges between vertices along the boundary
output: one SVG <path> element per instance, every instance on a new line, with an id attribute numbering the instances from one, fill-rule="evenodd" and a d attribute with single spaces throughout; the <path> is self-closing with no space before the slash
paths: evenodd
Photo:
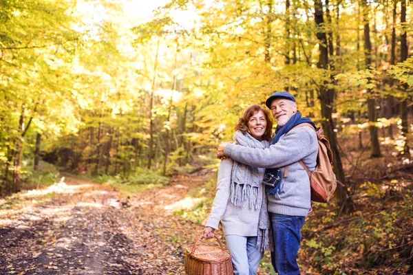
<path id="1" fill-rule="evenodd" d="M 277 168 L 304 159 L 317 150 L 316 142 L 317 134 L 306 126 L 289 131 L 276 144 L 265 149 L 227 144 L 224 153 L 235 161 L 250 166 Z"/>

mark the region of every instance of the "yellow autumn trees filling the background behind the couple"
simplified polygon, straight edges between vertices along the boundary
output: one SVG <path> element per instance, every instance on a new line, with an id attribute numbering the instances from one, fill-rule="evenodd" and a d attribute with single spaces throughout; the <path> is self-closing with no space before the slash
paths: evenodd
<path id="1" fill-rule="evenodd" d="M 118 2 L 1 1 L 0 193 L 39 159 L 94 176 L 202 166 L 275 90 L 323 126 L 341 181 L 344 137 L 410 156 L 410 2 Z"/>

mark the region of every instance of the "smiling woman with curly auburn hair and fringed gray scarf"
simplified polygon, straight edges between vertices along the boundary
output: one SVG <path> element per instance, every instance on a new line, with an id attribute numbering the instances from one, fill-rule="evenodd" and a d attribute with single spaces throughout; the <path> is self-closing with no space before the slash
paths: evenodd
<path id="1" fill-rule="evenodd" d="M 251 148 L 270 144 L 273 121 L 260 105 L 244 110 L 235 126 L 234 142 Z M 271 228 L 262 185 L 264 168 L 222 159 L 211 214 L 202 239 L 211 239 L 222 221 L 235 274 L 257 274 L 265 250 L 272 248 Z"/>

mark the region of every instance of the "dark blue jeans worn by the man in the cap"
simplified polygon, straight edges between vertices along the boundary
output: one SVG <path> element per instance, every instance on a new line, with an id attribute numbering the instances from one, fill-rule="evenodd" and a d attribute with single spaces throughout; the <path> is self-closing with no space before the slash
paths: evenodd
<path id="1" fill-rule="evenodd" d="M 301 241 L 301 228 L 305 217 L 269 213 L 273 224 L 274 251 L 271 263 L 279 275 L 299 273 L 297 253 Z"/>

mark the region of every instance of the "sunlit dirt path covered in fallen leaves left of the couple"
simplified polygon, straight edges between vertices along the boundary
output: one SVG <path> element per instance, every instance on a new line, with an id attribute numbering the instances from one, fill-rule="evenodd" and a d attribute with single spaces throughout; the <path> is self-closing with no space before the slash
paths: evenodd
<path id="1" fill-rule="evenodd" d="M 200 225 L 173 215 L 211 173 L 125 199 L 68 177 L 0 205 L 0 274 L 184 274 L 183 248 Z"/>

